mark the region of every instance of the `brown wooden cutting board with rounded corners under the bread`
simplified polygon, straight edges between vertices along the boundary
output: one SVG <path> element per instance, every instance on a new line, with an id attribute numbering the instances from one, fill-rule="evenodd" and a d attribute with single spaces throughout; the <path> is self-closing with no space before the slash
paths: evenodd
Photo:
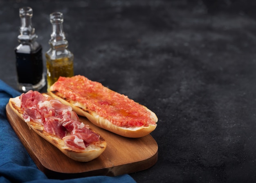
<path id="1" fill-rule="evenodd" d="M 51 143 L 40 137 L 6 106 L 7 119 L 39 170 L 50 179 L 71 179 L 85 176 L 117 176 L 146 170 L 157 162 L 158 146 L 148 134 L 141 138 L 122 137 L 93 125 L 85 117 L 79 120 L 89 124 L 107 142 L 106 150 L 89 162 L 79 162 L 65 156 Z"/>

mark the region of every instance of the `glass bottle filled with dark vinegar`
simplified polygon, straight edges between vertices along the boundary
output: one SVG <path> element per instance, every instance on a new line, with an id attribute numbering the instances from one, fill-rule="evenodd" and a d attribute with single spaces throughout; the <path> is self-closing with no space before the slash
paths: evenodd
<path id="1" fill-rule="evenodd" d="M 22 7 L 20 14 L 20 35 L 15 48 L 16 71 L 18 90 L 40 90 L 45 86 L 43 74 L 42 46 L 36 42 L 37 35 L 32 26 L 31 18 L 33 10 L 30 7 Z"/>

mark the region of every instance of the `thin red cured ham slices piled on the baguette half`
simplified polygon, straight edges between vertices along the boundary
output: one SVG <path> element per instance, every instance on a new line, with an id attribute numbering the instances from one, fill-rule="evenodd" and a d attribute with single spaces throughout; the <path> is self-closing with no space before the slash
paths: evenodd
<path id="1" fill-rule="evenodd" d="M 26 122 L 33 121 L 43 126 L 46 132 L 63 139 L 69 148 L 83 150 L 89 143 L 99 141 L 98 134 L 78 121 L 72 107 L 52 97 L 30 90 L 20 96 L 20 102 Z"/>

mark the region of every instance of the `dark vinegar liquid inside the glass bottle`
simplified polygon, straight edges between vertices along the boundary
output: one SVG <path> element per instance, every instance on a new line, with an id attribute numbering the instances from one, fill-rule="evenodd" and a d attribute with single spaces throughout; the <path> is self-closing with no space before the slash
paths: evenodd
<path id="1" fill-rule="evenodd" d="M 31 53 L 19 53 L 15 49 L 18 82 L 38 84 L 43 75 L 42 46 Z"/>

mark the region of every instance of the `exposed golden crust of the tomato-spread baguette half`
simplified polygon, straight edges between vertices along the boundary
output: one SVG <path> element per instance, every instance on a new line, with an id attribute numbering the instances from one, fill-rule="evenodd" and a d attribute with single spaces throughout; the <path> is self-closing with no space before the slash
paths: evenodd
<path id="1" fill-rule="evenodd" d="M 157 124 L 149 125 L 147 127 L 140 126 L 135 128 L 119 127 L 112 124 L 109 120 L 100 117 L 96 112 L 90 111 L 88 108 L 80 104 L 78 101 L 72 101 L 71 99 L 61 97 L 61 93 L 59 93 L 58 91 L 54 91 L 52 89 L 52 86 L 49 88 L 49 95 L 60 100 L 63 104 L 71 106 L 73 110 L 76 112 L 76 114 L 87 117 L 89 121 L 91 121 L 94 125 L 124 137 L 144 137 L 150 134 L 150 132 L 155 130 L 155 128 L 157 127 Z M 143 107 L 146 108 L 145 106 Z M 155 113 L 149 110 L 148 108 L 146 108 L 146 110 L 150 112 L 150 117 L 153 119 L 153 121 L 157 122 L 158 119 Z"/>

